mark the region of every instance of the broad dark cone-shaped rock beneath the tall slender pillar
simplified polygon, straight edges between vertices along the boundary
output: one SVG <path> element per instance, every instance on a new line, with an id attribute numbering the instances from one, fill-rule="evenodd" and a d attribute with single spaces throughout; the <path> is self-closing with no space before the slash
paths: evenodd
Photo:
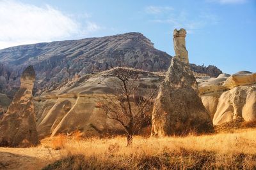
<path id="1" fill-rule="evenodd" d="M 212 132 L 209 113 L 197 92 L 188 64 L 175 58 L 161 83 L 152 113 L 152 136 Z"/>

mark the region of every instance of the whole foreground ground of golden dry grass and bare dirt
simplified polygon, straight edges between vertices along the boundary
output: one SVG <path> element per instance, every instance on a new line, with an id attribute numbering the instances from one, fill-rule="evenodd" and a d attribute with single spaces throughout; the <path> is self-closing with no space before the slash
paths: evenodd
<path id="1" fill-rule="evenodd" d="M 125 146 L 125 137 L 80 135 L 45 138 L 35 148 L 0 148 L 0 169 L 256 168 L 256 129 L 182 138 L 136 136 L 132 147 Z"/>

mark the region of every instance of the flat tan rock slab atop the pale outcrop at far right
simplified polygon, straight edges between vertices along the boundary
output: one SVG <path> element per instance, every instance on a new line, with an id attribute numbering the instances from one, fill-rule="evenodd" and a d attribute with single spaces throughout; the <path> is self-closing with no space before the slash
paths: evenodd
<path id="1" fill-rule="evenodd" d="M 239 85 L 252 85 L 256 83 L 256 73 L 236 73 L 230 76 L 223 84 L 228 89 L 233 89 Z"/>

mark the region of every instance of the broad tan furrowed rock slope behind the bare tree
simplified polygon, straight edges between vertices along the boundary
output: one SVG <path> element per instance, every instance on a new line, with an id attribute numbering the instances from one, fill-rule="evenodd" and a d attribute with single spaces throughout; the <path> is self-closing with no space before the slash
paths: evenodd
<path id="1" fill-rule="evenodd" d="M 164 79 L 164 76 L 156 73 L 138 69 L 131 70 L 138 72 L 140 81 L 135 83 L 138 83 L 141 95 L 156 89 Z M 87 74 L 78 79 L 74 78 L 36 97 L 40 138 L 74 131 L 84 132 L 86 136 L 125 134 L 123 127 L 115 120 L 109 120 L 103 110 L 97 106 L 102 97 L 106 97 L 106 94 L 111 95 L 114 90 L 117 90 L 115 83 L 116 78 L 109 70 L 98 74 Z M 63 101 L 70 102 L 69 111 L 62 108 L 65 104 Z"/>

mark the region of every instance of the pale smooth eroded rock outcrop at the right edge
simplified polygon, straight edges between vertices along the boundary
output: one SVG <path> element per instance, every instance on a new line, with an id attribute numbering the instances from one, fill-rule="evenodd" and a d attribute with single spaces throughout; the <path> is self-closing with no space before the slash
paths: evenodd
<path id="1" fill-rule="evenodd" d="M 214 125 L 239 120 L 255 121 L 255 73 L 240 71 L 199 79 L 199 91 Z"/>

